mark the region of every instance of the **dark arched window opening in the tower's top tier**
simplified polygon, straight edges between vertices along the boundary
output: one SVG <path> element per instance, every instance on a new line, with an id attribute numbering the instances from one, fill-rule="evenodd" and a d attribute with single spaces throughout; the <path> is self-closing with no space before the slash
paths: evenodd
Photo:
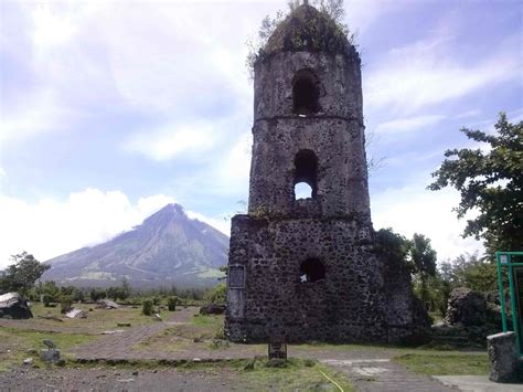
<path id="1" fill-rule="evenodd" d="M 311 115 L 320 112 L 319 83 L 314 74 L 308 70 L 298 71 L 292 81 L 292 113 Z"/>

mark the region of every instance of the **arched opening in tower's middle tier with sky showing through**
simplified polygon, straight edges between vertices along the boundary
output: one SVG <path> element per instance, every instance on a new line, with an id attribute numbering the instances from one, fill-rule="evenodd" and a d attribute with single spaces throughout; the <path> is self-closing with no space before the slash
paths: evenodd
<path id="1" fill-rule="evenodd" d="M 313 199 L 317 191 L 318 158 L 312 150 L 300 150 L 295 158 L 295 200 Z"/>

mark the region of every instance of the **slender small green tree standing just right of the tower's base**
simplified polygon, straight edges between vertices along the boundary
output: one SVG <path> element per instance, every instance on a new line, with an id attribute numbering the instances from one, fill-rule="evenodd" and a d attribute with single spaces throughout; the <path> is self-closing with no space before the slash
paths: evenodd
<path id="1" fill-rule="evenodd" d="M 436 251 L 430 245 L 430 240 L 423 234 L 415 233 L 409 246 L 412 269 L 417 275 L 420 284 L 419 297 L 424 303 L 429 299 L 428 279 L 436 275 Z"/>

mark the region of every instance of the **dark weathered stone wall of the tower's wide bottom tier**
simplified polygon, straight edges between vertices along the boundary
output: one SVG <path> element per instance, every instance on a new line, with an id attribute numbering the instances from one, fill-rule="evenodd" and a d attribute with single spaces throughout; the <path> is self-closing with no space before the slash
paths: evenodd
<path id="1" fill-rule="evenodd" d="M 415 335 L 410 287 L 386 286 L 373 243 L 369 225 L 352 219 L 236 215 L 230 266 L 244 266 L 245 288 L 228 290 L 231 340 L 387 342 Z M 300 282 L 309 257 L 324 264 L 324 279 Z"/>

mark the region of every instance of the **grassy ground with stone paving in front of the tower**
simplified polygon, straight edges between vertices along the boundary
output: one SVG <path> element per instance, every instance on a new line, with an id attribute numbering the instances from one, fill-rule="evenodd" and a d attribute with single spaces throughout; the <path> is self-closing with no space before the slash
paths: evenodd
<path id="1" fill-rule="evenodd" d="M 223 317 L 199 316 L 196 307 L 163 311 L 162 321 L 137 307 L 83 307 L 92 308 L 87 319 L 66 319 L 60 309 L 40 305 L 33 319 L 0 319 L 1 391 L 452 391 L 415 362 L 431 359 L 438 375 L 462 374 L 457 368 L 487 372 L 484 352 L 314 342 L 289 346 L 296 359 L 286 368 L 266 368 L 266 346 L 223 340 Z M 38 359 L 43 339 L 56 342 L 64 367 Z M 25 358 L 33 358 L 35 368 L 22 365 Z"/>

